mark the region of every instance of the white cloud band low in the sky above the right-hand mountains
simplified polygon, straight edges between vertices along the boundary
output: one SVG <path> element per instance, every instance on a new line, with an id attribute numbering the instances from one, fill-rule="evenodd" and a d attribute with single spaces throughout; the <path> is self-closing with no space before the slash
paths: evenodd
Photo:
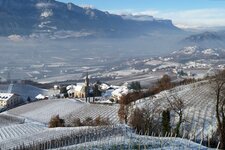
<path id="1" fill-rule="evenodd" d="M 179 27 L 215 27 L 225 25 L 225 9 L 192 9 L 184 11 L 161 11 L 149 9 L 146 11 L 120 10 L 112 11 L 117 14 L 149 15 L 155 18 L 171 19 Z"/>

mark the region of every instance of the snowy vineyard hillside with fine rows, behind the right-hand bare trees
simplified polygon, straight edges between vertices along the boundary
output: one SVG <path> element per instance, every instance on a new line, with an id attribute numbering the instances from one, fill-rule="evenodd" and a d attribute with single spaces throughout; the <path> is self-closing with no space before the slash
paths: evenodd
<path id="1" fill-rule="evenodd" d="M 163 91 L 156 98 L 145 98 L 136 102 L 135 106 L 160 104 L 162 108 L 169 106 L 166 97 L 176 95 L 184 101 L 184 119 L 181 129 L 184 137 L 198 140 L 207 140 L 216 130 L 215 95 L 212 85 L 207 81 L 176 87 Z M 178 118 L 172 120 L 172 125 Z"/>

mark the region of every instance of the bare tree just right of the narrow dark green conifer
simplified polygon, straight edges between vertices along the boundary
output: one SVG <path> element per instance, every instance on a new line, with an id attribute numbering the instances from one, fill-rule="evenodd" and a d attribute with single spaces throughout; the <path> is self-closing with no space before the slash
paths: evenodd
<path id="1" fill-rule="evenodd" d="M 175 133 L 177 136 L 180 136 L 180 126 L 185 121 L 184 109 L 186 108 L 184 101 L 176 95 L 171 95 L 170 97 L 166 96 L 166 99 L 170 105 L 169 109 L 174 111 L 178 115 L 178 122 L 176 124 Z"/>

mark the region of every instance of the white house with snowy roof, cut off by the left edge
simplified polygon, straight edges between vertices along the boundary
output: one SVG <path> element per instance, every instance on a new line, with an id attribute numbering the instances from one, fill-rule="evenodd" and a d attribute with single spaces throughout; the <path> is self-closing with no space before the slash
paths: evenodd
<path id="1" fill-rule="evenodd" d="M 19 95 L 12 93 L 0 93 L 0 107 L 11 108 L 22 103 Z"/>

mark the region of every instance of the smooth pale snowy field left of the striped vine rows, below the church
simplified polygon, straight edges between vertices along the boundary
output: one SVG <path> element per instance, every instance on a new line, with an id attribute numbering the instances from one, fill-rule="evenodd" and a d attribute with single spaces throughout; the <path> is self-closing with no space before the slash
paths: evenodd
<path id="1" fill-rule="evenodd" d="M 48 123 L 52 116 L 63 117 L 83 105 L 84 103 L 71 99 L 43 100 L 11 109 L 7 113 Z"/>

